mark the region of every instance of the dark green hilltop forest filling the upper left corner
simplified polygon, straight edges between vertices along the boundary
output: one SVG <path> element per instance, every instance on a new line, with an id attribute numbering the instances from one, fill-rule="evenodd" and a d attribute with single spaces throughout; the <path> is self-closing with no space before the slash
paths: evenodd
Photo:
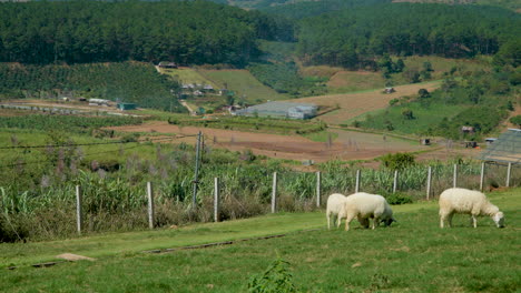
<path id="1" fill-rule="evenodd" d="M 257 39 L 291 40 L 293 26 L 207 1 L 0 3 L 0 61 L 173 60 L 244 65 Z"/>

